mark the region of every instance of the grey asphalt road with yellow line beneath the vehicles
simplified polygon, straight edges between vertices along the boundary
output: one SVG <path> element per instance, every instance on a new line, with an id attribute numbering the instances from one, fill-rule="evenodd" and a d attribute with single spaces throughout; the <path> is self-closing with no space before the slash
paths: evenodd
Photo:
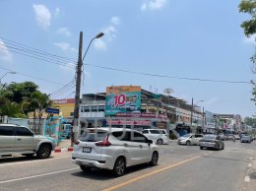
<path id="1" fill-rule="evenodd" d="M 255 149 L 256 142 L 226 141 L 224 151 L 202 151 L 198 146 L 178 146 L 171 142 L 160 146 L 158 166 L 133 166 L 118 178 L 107 170 L 82 172 L 71 162 L 70 153 L 54 154 L 43 160 L 0 159 L 0 191 L 252 191 L 256 186 L 249 186 L 246 173 L 256 167 L 252 162 L 256 160 Z"/>

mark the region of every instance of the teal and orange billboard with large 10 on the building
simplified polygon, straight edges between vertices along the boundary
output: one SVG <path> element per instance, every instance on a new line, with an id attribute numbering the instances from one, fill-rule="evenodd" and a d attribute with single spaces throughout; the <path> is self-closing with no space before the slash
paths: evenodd
<path id="1" fill-rule="evenodd" d="M 141 112 L 141 87 L 121 86 L 106 88 L 105 115 Z"/>

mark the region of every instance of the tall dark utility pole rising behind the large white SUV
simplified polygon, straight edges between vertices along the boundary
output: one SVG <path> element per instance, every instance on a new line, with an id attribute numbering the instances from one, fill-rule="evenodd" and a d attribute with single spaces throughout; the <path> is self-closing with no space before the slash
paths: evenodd
<path id="1" fill-rule="evenodd" d="M 73 128 L 71 130 L 71 146 L 74 146 L 75 133 L 79 130 L 79 105 L 80 105 L 80 89 L 81 89 L 81 73 L 82 73 L 82 51 L 83 51 L 83 32 L 80 32 L 79 38 L 79 52 L 78 52 L 78 65 L 76 72 L 76 96 L 75 96 L 75 108 L 74 108 L 74 119 L 73 119 Z M 76 131 L 74 131 L 76 128 Z"/>

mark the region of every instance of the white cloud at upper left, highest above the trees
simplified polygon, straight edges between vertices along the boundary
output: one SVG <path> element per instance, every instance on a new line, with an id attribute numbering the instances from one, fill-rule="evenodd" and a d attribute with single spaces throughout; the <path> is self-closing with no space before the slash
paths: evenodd
<path id="1" fill-rule="evenodd" d="M 35 19 L 39 27 L 43 30 L 47 30 L 50 27 L 51 13 L 44 5 L 33 5 L 33 12 L 35 14 Z"/>

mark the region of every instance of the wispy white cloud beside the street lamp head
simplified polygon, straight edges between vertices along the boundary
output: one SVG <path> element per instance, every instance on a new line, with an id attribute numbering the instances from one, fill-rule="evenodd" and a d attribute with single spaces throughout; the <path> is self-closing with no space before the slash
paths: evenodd
<path id="1" fill-rule="evenodd" d="M 103 38 L 98 38 L 94 41 L 94 47 L 96 49 L 106 50 L 107 43 L 111 42 L 117 35 L 116 27 L 120 24 L 120 19 L 118 17 L 112 17 L 110 19 L 110 25 L 102 30 L 104 33 Z"/>

